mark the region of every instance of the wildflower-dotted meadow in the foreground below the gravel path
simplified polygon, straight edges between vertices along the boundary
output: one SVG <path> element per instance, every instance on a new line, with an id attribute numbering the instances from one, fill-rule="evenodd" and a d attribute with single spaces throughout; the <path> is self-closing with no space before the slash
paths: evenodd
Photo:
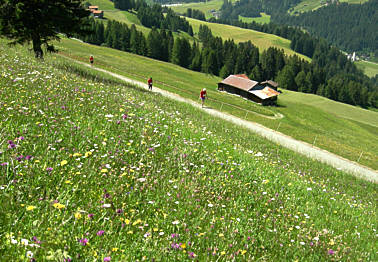
<path id="1" fill-rule="evenodd" d="M 376 260 L 376 184 L 3 43 L 1 260 Z"/>

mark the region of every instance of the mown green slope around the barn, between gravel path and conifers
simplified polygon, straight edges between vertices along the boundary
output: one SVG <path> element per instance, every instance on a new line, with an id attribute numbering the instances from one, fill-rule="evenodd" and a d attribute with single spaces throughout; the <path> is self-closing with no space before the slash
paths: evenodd
<path id="1" fill-rule="evenodd" d="M 378 113 L 337 103 L 323 97 L 284 91 L 279 97 L 281 107 L 264 108 L 252 102 L 216 91 L 218 77 L 212 77 L 181 67 L 104 47 L 63 40 L 62 51 L 75 59 L 87 61 L 88 54 L 95 54 L 96 65 L 137 80 L 155 79 L 157 86 L 198 101 L 199 91 L 209 91 L 209 106 L 229 112 L 241 118 L 258 122 L 296 139 L 313 143 L 347 159 L 378 169 Z M 170 86 L 159 82 L 168 83 Z M 174 86 L 172 88 L 171 86 Z M 282 113 L 280 120 L 267 119 L 253 113 L 222 105 L 226 101 L 243 109 L 262 114 Z M 266 111 L 268 110 L 268 111 Z"/>

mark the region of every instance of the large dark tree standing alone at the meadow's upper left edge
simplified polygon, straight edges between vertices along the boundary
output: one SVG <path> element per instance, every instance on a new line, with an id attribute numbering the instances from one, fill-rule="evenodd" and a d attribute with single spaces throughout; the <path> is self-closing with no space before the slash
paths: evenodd
<path id="1" fill-rule="evenodd" d="M 13 44 L 32 42 L 35 56 L 43 58 L 42 45 L 55 51 L 51 41 L 60 39 L 59 33 L 88 34 L 83 27 L 88 16 L 81 0 L 1 0 L 0 35 Z"/>

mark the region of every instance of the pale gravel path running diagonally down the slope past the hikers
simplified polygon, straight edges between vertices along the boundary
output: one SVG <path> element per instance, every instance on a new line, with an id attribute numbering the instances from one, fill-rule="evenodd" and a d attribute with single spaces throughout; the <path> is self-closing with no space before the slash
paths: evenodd
<path id="1" fill-rule="evenodd" d="M 132 80 L 132 79 L 127 78 L 125 76 L 110 72 L 110 71 L 102 69 L 102 68 L 97 68 L 97 67 L 91 66 L 91 65 L 84 63 L 84 62 L 80 62 L 80 61 L 77 61 L 77 60 L 74 60 L 74 59 L 72 59 L 72 60 L 77 62 L 77 63 L 80 63 L 84 66 L 87 66 L 89 68 L 92 68 L 94 70 L 97 70 L 97 71 L 109 74 L 109 75 L 116 77 L 118 79 L 121 79 L 121 80 L 123 80 L 127 83 L 131 83 L 135 86 L 139 86 L 141 88 L 148 89 L 147 84 L 142 83 L 140 81 Z M 176 94 L 173 94 L 171 92 L 159 89 L 157 87 L 153 88 L 153 92 L 159 93 L 159 94 L 161 94 L 165 97 L 169 97 L 169 98 L 176 100 L 176 101 L 180 101 L 180 102 L 190 104 L 193 107 L 199 108 L 199 109 L 203 110 L 204 112 L 206 112 L 206 113 L 208 113 L 212 116 L 219 117 L 221 119 L 227 120 L 227 121 L 232 122 L 234 124 L 237 124 L 239 126 L 243 126 L 247 129 L 257 133 L 258 135 L 265 137 L 268 140 L 273 141 L 274 143 L 277 143 L 281 146 L 289 148 L 289 149 L 291 149 L 295 152 L 298 152 L 302 155 L 305 155 L 309 158 L 319 160 L 320 162 L 326 163 L 326 164 L 328 164 L 328 165 L 330 165 L 330 166 L 332 166 L 332 167 L 334 167 L 338 170 L 345 171 L 347 173 L 350 173 L 350 174 L 352 174 L 356 177 L 359 177 L 359 178 L 367 180 L 367 181 L 378 183 L 378 173 L 375 170 L 370 169 L 370 168 L 365 167 L 365 166 L 362 166 L 362 165 L 360 165 L 356 162 L 350 161 L 348 159 L 345 159 L 343 157 L 335 155 L 331 152 L 328 152 L 326 150 L 323 150 L 323 149 L 320 149 L 320 148 L 315 147 L 313 145 L 310 145 L 306 142 L 295 140 L 292 137 L 289 137 L 285 134 L 282 134 L 280 132 L 269 129 L 269 128 L 262 126 L 260 124 L 250 122 L 250 121 L 247 121 L 247 120 L 243 120 L 243 119 L 240 119 L 240 118 L 235 117 L 233 115 L 223 113 L 223 112 L 220 112 L 220 111 L 215 110 L 215 109 L 210 109 L 210 108 L 206 108 L 206 107 L 201 108 L 201 105 L 199 103 L 196 103 L 196 102 L 194 102 L 190 99 L 183 98 L 183 97 L 176 95 Z"/>

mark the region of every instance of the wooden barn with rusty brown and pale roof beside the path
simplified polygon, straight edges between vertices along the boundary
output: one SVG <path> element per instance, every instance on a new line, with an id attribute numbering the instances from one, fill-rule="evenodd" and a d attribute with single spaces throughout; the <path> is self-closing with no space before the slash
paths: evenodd
<path id="1" fill-rule="evenodd" d="M 274 105 L 280 94 L 277 92 L 278 84 L 274 81 L 257 82 L 246 75 L 230 75 L 218 83 L 219 91 L 240 95 L 262 105 Z"/>

